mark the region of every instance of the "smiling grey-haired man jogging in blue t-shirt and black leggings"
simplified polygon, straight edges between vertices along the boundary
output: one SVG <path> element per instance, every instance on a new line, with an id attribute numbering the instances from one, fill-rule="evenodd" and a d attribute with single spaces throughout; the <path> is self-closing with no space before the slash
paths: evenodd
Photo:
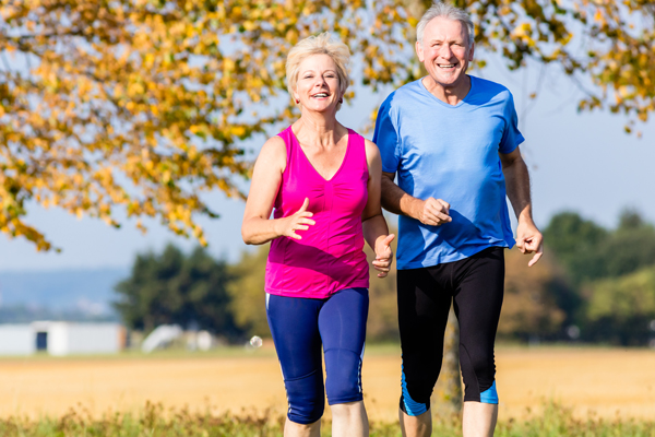
<path id="1" fill-rule="evenodd" d="M 474 54 L 468 14 L 434 3 L 417 26 L 428 75 L 380 107 L 382 204 L 400 214 L 401 426 L 429 436 L 451 302 L 460 322 L 464 436 L 492 436 L 498 415 L 493 341 L 503 296 L 503 248 L 541 256 L 516 111 L 502 85 L 466 74 Z M 397 185 L 394 177 L 397 174 Z M 519 218 L 516 240 L 507 196 Z"/>

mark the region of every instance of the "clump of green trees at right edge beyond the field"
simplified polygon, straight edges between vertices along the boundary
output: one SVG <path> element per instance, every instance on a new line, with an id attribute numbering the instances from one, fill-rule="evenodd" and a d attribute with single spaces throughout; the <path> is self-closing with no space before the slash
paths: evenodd
<path id="1" fill-rule="evenodd" d="M 585 341 L 645 344 L 655 318 L 647 274 L 655 260 L 655 227 L 634 210 L 624 210 L 611 231 L 565 212 L 555 215 L 544 234 L 573 285 L 579 309 L 567 323 L 580 326 Z"/>

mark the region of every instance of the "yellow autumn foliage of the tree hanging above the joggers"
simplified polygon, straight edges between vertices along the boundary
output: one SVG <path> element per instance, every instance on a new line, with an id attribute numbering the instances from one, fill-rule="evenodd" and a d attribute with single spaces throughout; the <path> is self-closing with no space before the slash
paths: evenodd
<path id="1" fill-rule="evenodd" d="M 508 68 L 527 59 L 558 63 L 595 85 L 585 86 L 581 109 L 609 108 L 644 121 L 655 109 L 652 2 L 454 3 L 473 13 L 478 48 L 501 54 Z M 249 163 L 240 141 L 298 114 L 284 92 L 288 49 L 331 31 L 355 52 L 362 85 L 401 85 L 420 74 L 414 26 L 429 4 L 2 2 L 0 229 L 49 249 L 25 222 L 34 202 L 112 226 L 123 213 L 156 217 L 204 244 L 196 218 L 217 212 L 201 193 L 242 196 L 236 181 Z"/>

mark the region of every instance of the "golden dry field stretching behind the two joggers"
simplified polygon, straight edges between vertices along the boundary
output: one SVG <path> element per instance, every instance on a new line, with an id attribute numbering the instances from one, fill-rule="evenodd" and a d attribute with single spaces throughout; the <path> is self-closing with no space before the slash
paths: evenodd
<path id="1" fill-rule="evenodd" d="M 655 417 L 655 351 L 501 346 L 497 367 L 505 423 L 543 414 L 550 400 L 577 418 Z M 367 350 L 362 379 L 371 420 L 395 421 L 398 369 L 397 346 Z M 143 411 L 147 401 L 213 415 L 269 409 L 273 417 L 286 409 L 270 344 L 250 352 L 3 358 L 0 387 L 0 417 L 5 418 L 61 417 L 76 405 L 99 417 L 109 411 Z"/>

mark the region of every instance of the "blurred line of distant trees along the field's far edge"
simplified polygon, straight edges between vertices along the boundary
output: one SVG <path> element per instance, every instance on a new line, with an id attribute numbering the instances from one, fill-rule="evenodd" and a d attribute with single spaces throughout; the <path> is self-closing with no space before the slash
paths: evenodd
<path id="1" fill-rule="evenodd" d="M 499 338 L 644 345 L 655 339 L 655 227 L 635 211 L 605 228 L 574 212 L 555 215 L 544 231 L 546 255 L 527 268 L 505 252 L 505 298 Z M 236 341 L 267 336 L 264 270 L 269 246 L 236 263 L 205 249 L 174 246 L 136 257 L 116 291 L 124 323 L 150 331 L 160 323 L 200 327 Z M 372 253 L 368 253 L 369 257 Z M 371 272 L 369 341 L 396 341 L 395 272 Z"/>

